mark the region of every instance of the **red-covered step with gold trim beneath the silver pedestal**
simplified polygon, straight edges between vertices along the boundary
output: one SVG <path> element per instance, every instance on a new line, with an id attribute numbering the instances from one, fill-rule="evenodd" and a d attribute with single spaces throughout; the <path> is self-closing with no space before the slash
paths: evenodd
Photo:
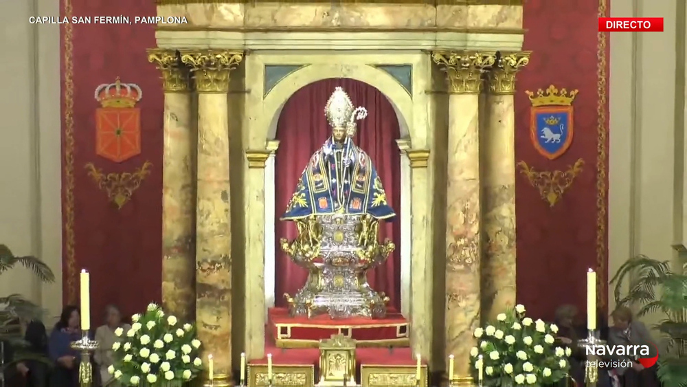
<path id="1" fill-rule="evenodd" d="M 348 318 L 329 316 L 291 317 L 286 308 L 269 309 L 269 331 L 279 348 L 317 348 L 319 340 L 343 333 L 362 347 L 408 346 L 408 320 L 401 313 L 390 312 L 386 318 Z"/>

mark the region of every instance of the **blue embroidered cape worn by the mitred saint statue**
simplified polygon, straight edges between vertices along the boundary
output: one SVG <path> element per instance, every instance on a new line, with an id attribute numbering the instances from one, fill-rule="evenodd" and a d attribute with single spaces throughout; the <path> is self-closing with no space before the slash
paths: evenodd
<path id="1" fill-rule="evenodd" d="M 313 154 L 282 220 L 336 213 L 370 214 L 375 219 L 391 219 L 396 215 L 387 203 L 370 156 L 350 139 L 339 152 L 341 156 L 335 157 L 335 144 L 330 138 Z M 338 198 L 343 199 L 341 203 Z"/>

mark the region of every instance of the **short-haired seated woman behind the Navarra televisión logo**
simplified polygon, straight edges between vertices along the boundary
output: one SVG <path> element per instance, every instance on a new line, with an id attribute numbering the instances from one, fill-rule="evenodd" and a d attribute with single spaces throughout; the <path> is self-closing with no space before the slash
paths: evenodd
<path id="1" fill-rule="evenodd" d="M 609 346 L 649 345 L 650 350 L 655 349 L 649 329 L 646 329 L 644 323 L 633 318 L 629 308 L 618 307 L 611 313 L 611 318 L 613 318 L 613 326 L 609 329 Z M 656 365 L 644 368 L 635 358 L 624 355 L 616 356 L 613 360 L 630 364 L 630 366 L 614 370 L 623 387 L 660 387 Z"/>

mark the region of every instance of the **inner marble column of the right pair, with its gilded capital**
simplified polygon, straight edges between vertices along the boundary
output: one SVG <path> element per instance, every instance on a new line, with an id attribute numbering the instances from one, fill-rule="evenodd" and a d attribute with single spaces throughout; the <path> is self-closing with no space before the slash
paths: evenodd
<path id="1" fill-rule="evenodd" d="M 447 75 L 449 134 L 446 208 L 445 356 L 455 356 L 455 383 L 472 385 L 470 349 L 480 324 L 480 118 L 482 74 L 495 54 L 434 53 Z"/>

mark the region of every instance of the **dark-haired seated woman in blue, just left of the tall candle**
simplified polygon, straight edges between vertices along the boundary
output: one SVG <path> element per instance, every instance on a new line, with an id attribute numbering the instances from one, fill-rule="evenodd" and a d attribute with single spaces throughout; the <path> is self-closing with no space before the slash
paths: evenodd
<path id="1" fill-rule="evenodd" d="M 71 349 L 71 342 L 81 338 L 79 309 L 67 305 L 62 309 L 60 320 L 50 333 L 48 353 L 55 367 L 50 378 L 52 387 L 74 387 L 78 384 L 80 355 Z"/>

